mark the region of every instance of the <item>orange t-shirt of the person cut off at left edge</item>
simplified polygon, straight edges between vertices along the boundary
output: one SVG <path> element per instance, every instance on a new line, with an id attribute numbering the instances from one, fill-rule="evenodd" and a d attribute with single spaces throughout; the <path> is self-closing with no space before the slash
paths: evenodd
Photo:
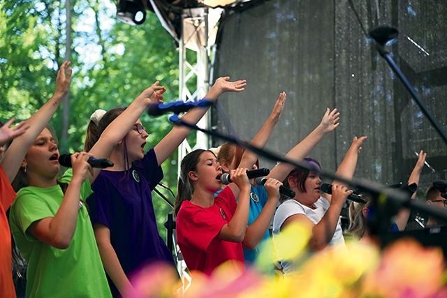
<path id="1" fill-rule="evenodd" d="M 11 233 L 6 211 L 13 204 L 16 193 L 0 165 L 0 296 L 15 297 L 13 283 Z"/>

